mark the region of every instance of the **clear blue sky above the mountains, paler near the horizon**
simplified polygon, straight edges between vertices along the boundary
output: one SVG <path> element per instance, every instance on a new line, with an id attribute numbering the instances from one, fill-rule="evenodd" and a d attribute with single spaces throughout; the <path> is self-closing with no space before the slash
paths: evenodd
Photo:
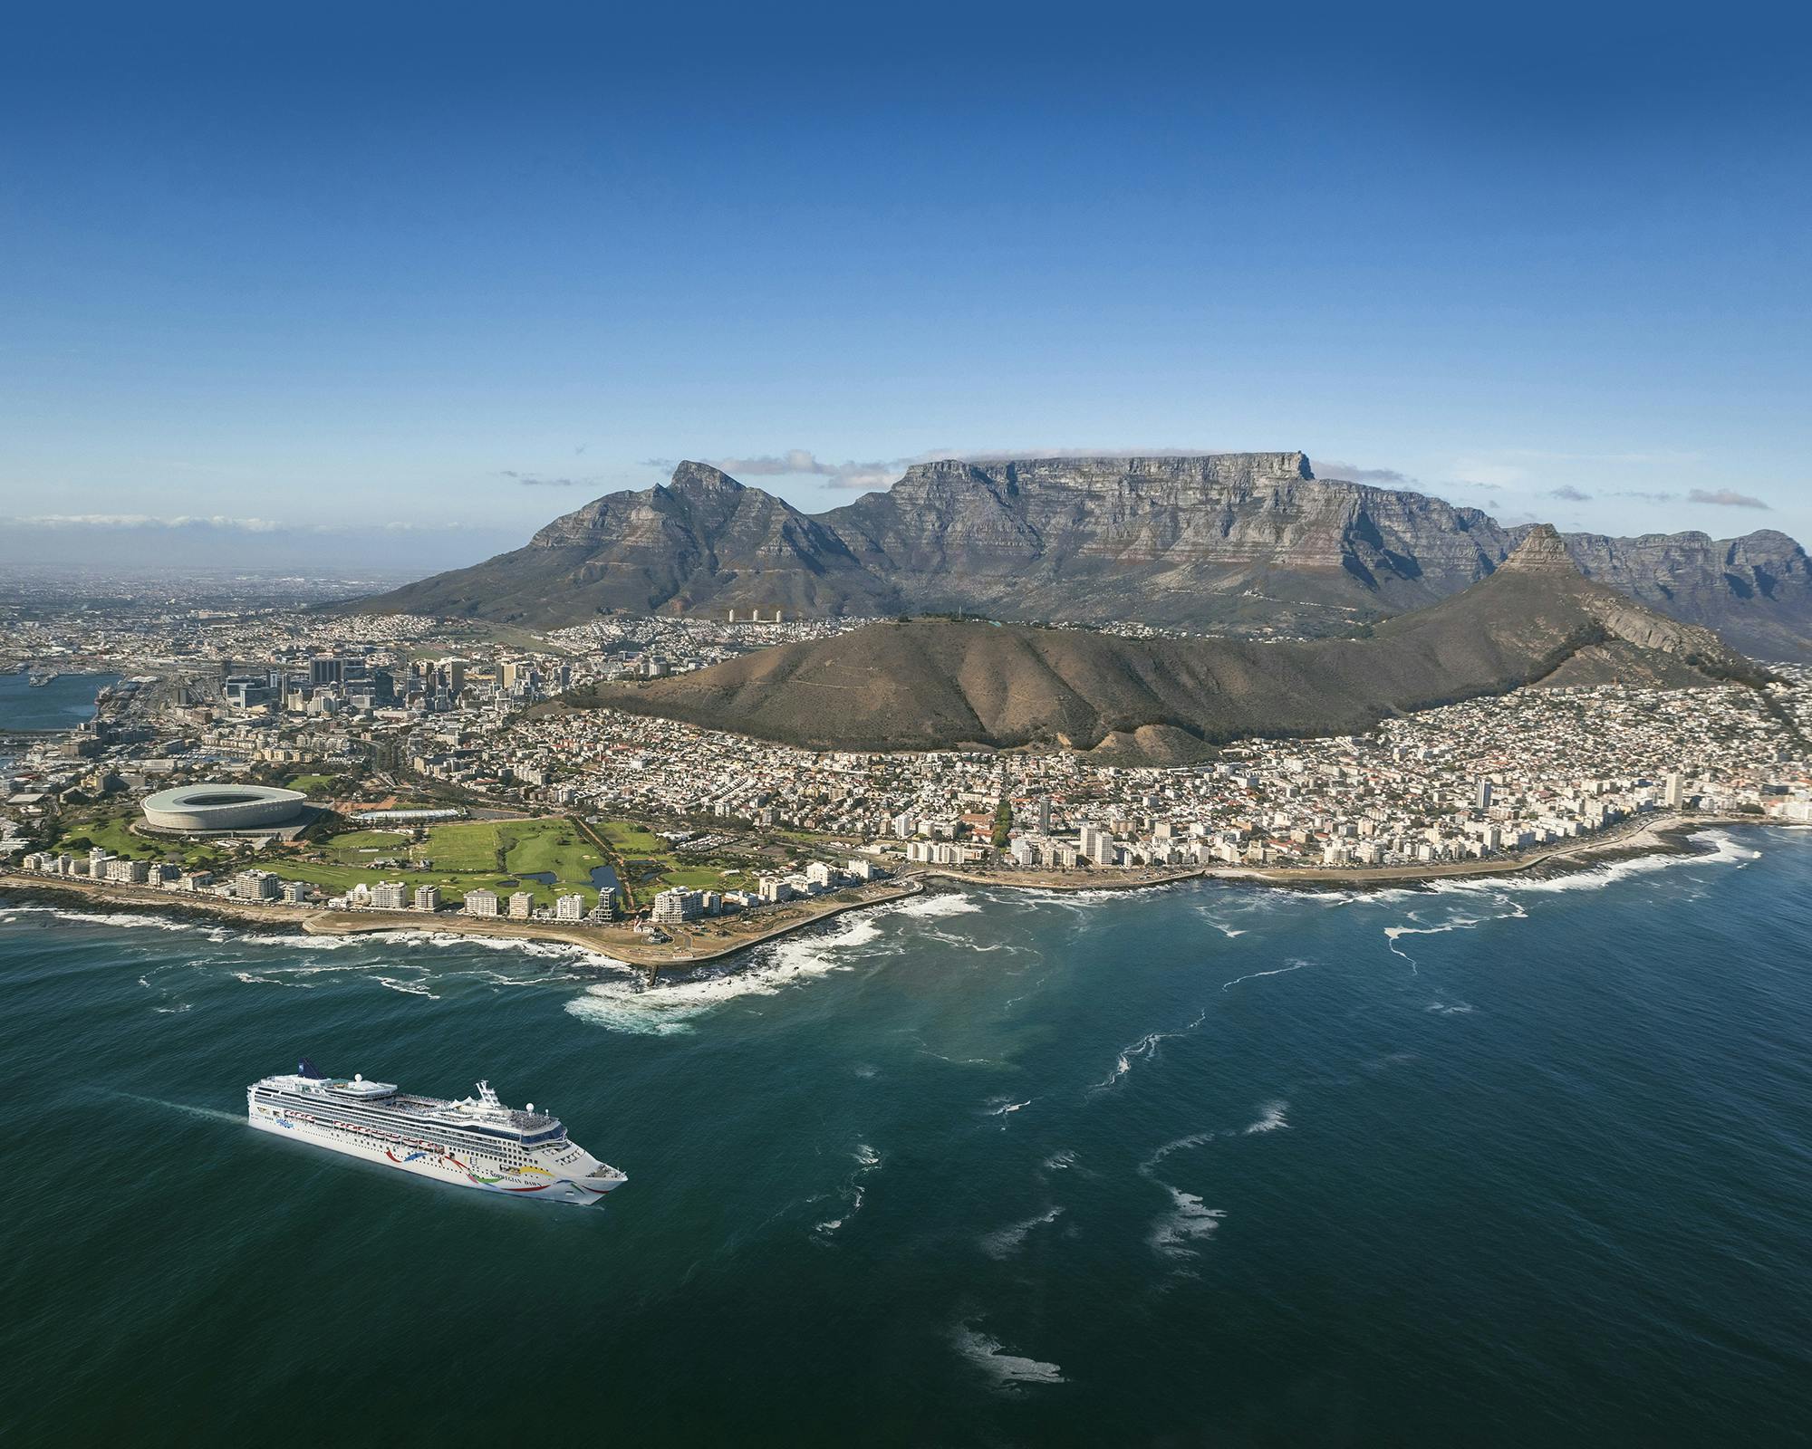
<path id="1" fill-rule="evenodd" d="M 45 9 L 0 53 L 0 558 L 440 567 L 661 460 L 821 509 L 1058 449 L 1808 540 L 1805 40 L 1741 5 Z"/>

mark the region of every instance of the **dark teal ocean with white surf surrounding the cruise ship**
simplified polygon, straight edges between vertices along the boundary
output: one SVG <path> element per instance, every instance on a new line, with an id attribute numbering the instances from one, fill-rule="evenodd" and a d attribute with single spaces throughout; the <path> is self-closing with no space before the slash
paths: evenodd
<path id="1" fill-rule="evenodd" d="M 652 991 L 0 900 L 0 1438 L 1805 1442 L 1812 833 L 1698 844 L 922 897 Z M 250 1132 L 303 1052 L 631 1181 Z"/>

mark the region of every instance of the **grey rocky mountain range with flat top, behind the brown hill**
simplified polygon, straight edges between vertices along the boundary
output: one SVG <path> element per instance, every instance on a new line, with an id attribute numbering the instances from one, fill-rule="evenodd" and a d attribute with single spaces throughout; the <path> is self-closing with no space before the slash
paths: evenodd
<path id="1" fill-rule="evenodd" d="M 777 607 L 1335 634 L 1477 583 L 1528 533 L 1316 478 L 1301 453 L 920 464 L 821 514 L 685 462 L 522 549 L 355 607 L 536 629 Z M 1812 654 L 1812 565 L 1787 534 L 1566 534 L 1566 547 L 1589 578 L 1741 648 Z"/>

